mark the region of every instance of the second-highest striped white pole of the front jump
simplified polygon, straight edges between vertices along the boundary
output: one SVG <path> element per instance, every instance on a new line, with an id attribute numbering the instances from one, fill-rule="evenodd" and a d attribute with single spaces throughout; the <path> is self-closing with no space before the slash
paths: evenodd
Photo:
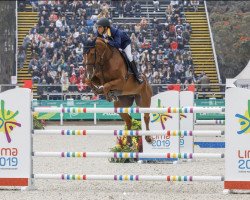
<path id="1" fill-rule="evenodd" d="M 36 135 L 66 135 L 66 136 L 86 136 L 86 135 L 114 135 L 114 136 L 199 136 L 214 137 L 224 135 L 220 130 L 34 130 Z"/>

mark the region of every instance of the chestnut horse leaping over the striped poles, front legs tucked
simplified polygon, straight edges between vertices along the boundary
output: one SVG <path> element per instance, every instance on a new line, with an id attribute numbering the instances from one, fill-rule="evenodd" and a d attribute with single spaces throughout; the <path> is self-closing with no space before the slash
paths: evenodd
<path id="1" fill-rule="evenodd" d="M 86 83 L 95 94 L 105 95 L 108 101 L 114 100 L 114 107 L 131 107 L 133 102 L 139 107 L 150 107 L 152 88 L 145 76 L 139 84 L 134 75 L 128 71 L 121 52 L 97 37 L 92 46 L 84 54 L 87 77 Z M 127 113 L 120 113 L 128 130 L 132 119 Z M 149 130 L 149 113 L 144 113 L 146 130 Z M 146 136 L 147 142 L 152 142 Z"/>

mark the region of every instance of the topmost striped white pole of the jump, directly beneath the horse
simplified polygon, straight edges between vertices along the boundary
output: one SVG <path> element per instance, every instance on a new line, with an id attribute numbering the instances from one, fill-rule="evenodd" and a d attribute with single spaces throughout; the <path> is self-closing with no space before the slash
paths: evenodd
<path id="1" fill-rule="evenodd" d="M 225 107 L 167 107 L 167 108 L 82 108 L 82 107 L 35 107 L 40 113 L 221 113 Z"/>

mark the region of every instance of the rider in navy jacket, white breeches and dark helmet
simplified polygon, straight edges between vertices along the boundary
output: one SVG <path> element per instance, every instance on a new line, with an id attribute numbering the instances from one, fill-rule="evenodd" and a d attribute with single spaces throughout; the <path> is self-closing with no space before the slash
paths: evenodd
<path id="1" fill-rule="evenodd" d="M 131 70 L 135 75 L 136 80 L 141 84 L 143 83 L 143 78 L 139 74 L 136 63 L 131 54 L 131 40 L 128 35 L 110 25 L 110 22 L 107 18 L 101 18 L 96 22 L 98 37 L 104 38 L 104 41 L 109 45 L 122 49 L 130 62 Z"/>

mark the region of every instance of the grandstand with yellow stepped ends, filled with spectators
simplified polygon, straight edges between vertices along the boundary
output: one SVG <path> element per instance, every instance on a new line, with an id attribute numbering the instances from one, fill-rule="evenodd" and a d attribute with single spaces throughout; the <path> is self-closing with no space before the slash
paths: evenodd
<path id="1" fill-rule="evenodd" d="M 60 84 L 64 77 L 63 73 L 68 79 L 67 84 L 79 83 L 80 76 L 84 73 L 81 71 L 84 70 L 84 65 L 79 53 L 82 48 L 80 46 L 81 44 L 84 46 L 85 41 L 92 37 L 93 25 L 106 8 L 114 26 L 127 31 L 131 37 L 135 36 L 137 42 L 134 42 L 134 45 L 132 42 L 133 52 L 138 57 L 140 70 L 146 74 L 151 84 L 179 82 L 196 84 L 200 83 L 204 72 L 209 77 L 210 83 L 218 84 L 220 81 L 206 8 L 201 0 L 197 6 L 193 5 L 197 1 L 160 0 L 158 9 L 155 8 L 155 1 L 151 0 L 140 0 L 137 6 L 135 6 L 136 0 L 98 1 L 98 3 L 72 0 L 67 1 L 67 4 L 63 4 L 64 1 L 60 0 L 49 3 L 29 0 L 24 2 L 25 5 L 19 7 L 18 11 L 18 46 L 26 47 L 26 59 L 22 67 L 18 66 L 18 83 L 23 84 L 24 80 L 33 79 L 33 92 L 36 98 L 40 98 L 41 94 L 37 84 Z M 50 2 L 53 2 L 52 5 Z M 41 16 L 45 18 L 45 25 L 41 25 L 43 24 Z M 67 25 L 60 25 L 64 18 Z M 57 20 L 61 20 L 58 27 Z M 139 27 L 139 32 L 136 25 Z M 59 30 L 61 26 L 67 27 L 66 30 Z M 59 36 L 55 34 L 55 28 Z M 68 41 L 70 39 L 67 37 L 71 37 L 72 41 Z M 48 48 L 50 44 L 67 48 L 66 50 Z M 70 56 L 69 50 L 78 53 Z M 42 58 L 44 54 L 46 54 L 44 59 L 47 60 Z M 38 66 L 32 68 L 30 63 L 34 56 Z M 181 71 L 177 70 L 178 67 Z M 190 71 L 191 78 L 187 76 L 187 71 Z M 52 79 L 47 77 L 48 73 Z M 74 78 L 77 79 L 76 82 L 72 82 Z M 63 92 L 77 92 L 77 87 L 69 88 Z M 166 86 L 161 88 L 164 90 Z M 201 89 L 197 88 L 197 91 Z M 220 88 L 211 86 L 211 92 L 220 92 Z"/>

